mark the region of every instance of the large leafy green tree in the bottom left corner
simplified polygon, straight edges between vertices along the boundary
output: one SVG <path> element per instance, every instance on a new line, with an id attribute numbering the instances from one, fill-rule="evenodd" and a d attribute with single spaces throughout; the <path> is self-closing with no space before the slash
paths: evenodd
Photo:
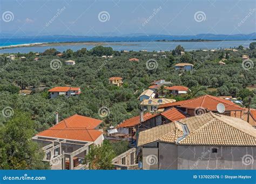
<path id="1" fill-rule="evenodd" d="M 42 160 L 44 153 L 31 140 L 34 123 L 25 112 L 15 111 L 5 126 L 0 128 L 1 169 L 48 169 Z"/>

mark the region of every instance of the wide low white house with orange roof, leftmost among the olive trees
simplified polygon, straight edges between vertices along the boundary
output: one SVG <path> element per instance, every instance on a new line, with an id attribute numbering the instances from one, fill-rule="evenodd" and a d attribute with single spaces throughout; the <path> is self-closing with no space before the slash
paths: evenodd
<path id="1" fill-rule="evenodd" d="M 55 98 L 58 95 L 65 95 L 65 96 L 76 96 L 81 93 L 80 88 L 73 88 L 73 87 L 54 87 L 48 90 L 50 98 Z"/>

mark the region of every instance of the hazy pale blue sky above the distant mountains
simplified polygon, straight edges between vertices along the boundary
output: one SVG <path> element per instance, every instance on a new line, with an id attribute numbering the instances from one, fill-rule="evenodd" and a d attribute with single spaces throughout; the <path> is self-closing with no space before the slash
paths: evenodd
<path id="1" fill-rule="evenodd" d="M 1 0 L 0 33 L 15 36 L 256 32 L 255 0 Z"/>

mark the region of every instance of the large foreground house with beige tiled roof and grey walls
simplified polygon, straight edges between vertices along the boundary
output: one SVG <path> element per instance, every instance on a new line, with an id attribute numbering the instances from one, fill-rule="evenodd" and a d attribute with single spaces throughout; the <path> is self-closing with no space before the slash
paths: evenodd
<path id="1" fill-rule="evenodd" d="M 137 140 L 143 169 L 256 168 L 256 129 L 240 118 L 208 112 L 140 131 Z"/>

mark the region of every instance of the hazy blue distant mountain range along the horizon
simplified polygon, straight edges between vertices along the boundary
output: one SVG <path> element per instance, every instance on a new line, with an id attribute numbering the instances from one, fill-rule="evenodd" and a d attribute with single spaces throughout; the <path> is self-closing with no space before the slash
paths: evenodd
<path id="1" fill-rule="evenodd" d="M 135 33 L 135 34 L 123 34 L 122 36 L 117 37 L 93 37 L 93 36 L 71 36 L 71 35 L 45 35 L 45 36 L 10 36 L 8 34 L 0 34 L 0 39 L 61 39 L 69 41 L 156 41 L 156 40 L 191 40 L 191 39 L 203 39 L 203 40 L 255 40 L 256 32 L 251 34 L 197 34 L 195 36 L 179 36 L 179 35 L 157 35 L 157 34 L 144 34 L 144 33 Z"/>

